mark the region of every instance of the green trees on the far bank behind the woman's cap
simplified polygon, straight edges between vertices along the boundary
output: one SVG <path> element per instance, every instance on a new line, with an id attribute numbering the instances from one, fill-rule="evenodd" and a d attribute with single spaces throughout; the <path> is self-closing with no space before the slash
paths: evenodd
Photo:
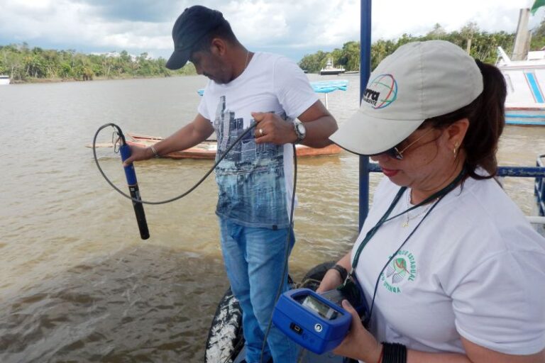
<path id="1" fill-rule="evenodd" d="M 387 55 L 405 43 L 432 39 L 448 40 L 459 45 L 464 50 L 470 49 L 470 55 L 482 62 L 495 64 L 497 60 L 497 47 L 501 46 L 507 54 L 512 52 L 514 33 L 488 33 L 479 30 L 477 24 L 468 23 L 458 31 L 447 33 L 439 23 L 426 35 L 415 37 L 403 34 L 397 40 L 378 40 L 371 45 L 371 69 L 382 61 Z M 545 21 L 532 31 L 530 49 L 539 50 L 545 46 Z M 311 73 L 318 73 L 324 68 L 327 60 L 331 58 L 335 66 L 342 66 L 346 71 L 357 71 L 360 67 L 360 43 L 344 43 L 342 49 L 334 49 L 331 52 L 319 50 L 312 55 L 305 55 L 299 62 L 299 67 Z"/>

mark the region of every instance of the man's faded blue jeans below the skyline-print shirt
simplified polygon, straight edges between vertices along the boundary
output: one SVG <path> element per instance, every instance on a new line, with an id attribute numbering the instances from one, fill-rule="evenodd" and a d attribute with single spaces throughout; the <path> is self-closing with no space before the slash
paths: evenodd
<path id="1" fill-rule="evenodd" d="M 233 294 L 241 303 L 242 326 L 246 340 L 246 362 L 260 362 L 278 286 L 287 291 L 284 266 L 286 238 L 290 228 L 272 230 L 238 225 L 219 218 L 221 251 Z M 294 245 L 291 233 L 289 252 Z M 275 363 L 297 362 L 297 345 L 271 324 L 263 363 L 272 356 Z"/>

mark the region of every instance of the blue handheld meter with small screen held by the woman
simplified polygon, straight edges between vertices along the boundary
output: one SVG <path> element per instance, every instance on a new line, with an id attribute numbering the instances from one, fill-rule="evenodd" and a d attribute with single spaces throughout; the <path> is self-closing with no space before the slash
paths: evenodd
<path id="1" fill-rule="evenodd" d="M 352 315 L 341 307 L 344 296 L 336 289 L 317 294 L 311 289 L 294 289 L 278 299 L 272 323 L 287 337 L 307 350 L 322 354 L 341 344 Z"/>

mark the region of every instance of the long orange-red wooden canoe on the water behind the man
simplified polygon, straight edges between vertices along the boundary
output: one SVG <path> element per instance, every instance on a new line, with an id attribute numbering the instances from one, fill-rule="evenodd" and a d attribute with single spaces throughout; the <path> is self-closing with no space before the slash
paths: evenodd
<path id="1" fill-rule="evenodd" d="M 127 144 L 136 147 L 149 147 L 155 143 L 158 143 L 160 140 L 163 140 L 163 138 L 158 136 L 140 135 L 136 133 L 126 134 Z M 206 140 L 199 145 L 190 147 L 189 149 L 171 152 L 170 154 L 163 155 L 163 157 L 169 157 L 170 159 L 215 159 L 216 150 L 216 140 Z M 295 150 L 298 157 L 312 157 L 337 155 L 342 149 L 336 144 L 331 144 L 319 149 L 305 145 L 296 145 Z"/>

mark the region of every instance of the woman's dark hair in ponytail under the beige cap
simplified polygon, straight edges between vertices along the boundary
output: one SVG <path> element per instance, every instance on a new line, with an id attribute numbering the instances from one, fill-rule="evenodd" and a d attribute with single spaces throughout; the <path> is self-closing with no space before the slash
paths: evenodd
<path id="1" fill-rule="evenodd" d="M 505 126 L 505 78 L 500 69 L 475 60 L 483 74 L 483 92 L 468 106 L 446 115 L 428 118 L 421 127 L 446 128 L 448 125 L 468 118 L 469 128 L 461 148 L 466 151 L 466 172 L 474 179 L 490 179 L 497 173 L 497 143 Z M 477 174 L 483 167 L 488 176 Z"/>

